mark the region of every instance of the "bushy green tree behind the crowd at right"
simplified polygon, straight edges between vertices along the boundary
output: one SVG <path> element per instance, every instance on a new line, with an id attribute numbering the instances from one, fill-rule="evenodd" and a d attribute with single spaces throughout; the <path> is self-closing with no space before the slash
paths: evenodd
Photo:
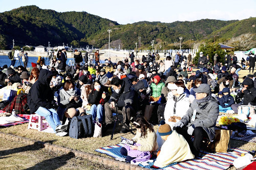
<path id="1" fill-rule="evenodd" d="M 224 57 L 227 54 L 225 50 L 221 49 L 221 46 L 218 43 L 209 43 L 209 44 L 201 44 L 199 46 L 199 51 L 196 53 L 196 57 L 193 59 L 193 63 L 195 65 L 198 64 L 198 58 L 199 58 L 199 53 L 203 52 L 204 56 L 207 54 L 209 55 L 210 63 L 214 62 L 214 55 L 218 54 L 220 57 L 220 62 L 224 63 Z"/>

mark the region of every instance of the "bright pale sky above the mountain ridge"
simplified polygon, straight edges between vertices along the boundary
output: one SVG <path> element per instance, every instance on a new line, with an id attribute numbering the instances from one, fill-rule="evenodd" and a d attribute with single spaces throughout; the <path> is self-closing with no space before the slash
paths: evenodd
<path id="1" fill-rule="evenodd" d="M 194 21 L 198 19 L 246 19 L 256 17 L 256 0 L 0 0 L 0 12 L 36 5 L 57 12 L 86 11 L 120 24 L 138 21 Z"/>

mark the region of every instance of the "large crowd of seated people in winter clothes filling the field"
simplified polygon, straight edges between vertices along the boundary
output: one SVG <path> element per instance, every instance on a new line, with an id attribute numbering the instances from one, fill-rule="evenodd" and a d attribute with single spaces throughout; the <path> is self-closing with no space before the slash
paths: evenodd
<path id="1" fill-rule="evenodd" d="M 95 52 L 95 64 L 88 64 L 88 56 L 84 57 L 85 64 L 81 64 L 83 57 L 76 51 L 76 65 L 69 66 L 63 49 L 52 57 L 49 66 L 41 57 L 37 63 L 32 63 L 30 71 L 18 66 L 16 72 L 4 65 L 0 71 L 0 85 L 8 89 L 16 84 L 17 89 L 23 89 L 19 95 L 27 95 L 30 113 L 44 116 L 59 136 L 67 135 L 71 118 L 86 114 L 86 110 L 94 120 L 102 123 L 104 133 L 113 128 L 113 113 L 117 111 L 123 116 L 125 125 L 120 133 L 129 132 L 126 127 L 131 124 L 137 129 L 132 140 L 138 145 L 121 149 L 129 162 L 136 160 L 136 155 L 158 149 L 157 135 L 151 124 L 164 120 L 158 130 L 161 138 L 166 143 L 174 142 L 174 138 L 181 141 L 175 149 L 163 144 L 165 151 L 160 152 L 156 166 L 164 167 L 172 161 L 199 155 L 203 138 L 214 138 L 219 110 L 237 113 L 240 104 L 256 105 L 256 73 L 239 82 L 239 71 L 244 66 L 241 63 L 245 61 L 237 61 L 236 55 L 232 59 L 226 56 L 222 65 L 218 54 L 213 57 L 214 63 L 210 63 L 209 56 L 201 52 L 199 70 L 195 72 L 190 69 L 190 54 L 186 57 L 177 53 L 174 58 L 166 54 L 160 61 L 158 56 L 148 54 L 140 61 L 134 60 L 132 54 L 132 62 L 125 58 L 113 63 L 111 58 L 102 62 Z M 252 72 L 253 61 L 255 64 L 255 56 L 250 54 L 248 62 Z M 231 93 L 237 93 L 241 100 L 233 98 Z M 147 107 L 152 105 L 152 115 L 145 119 Z M 181 151 L 187 151 L 182 158 L 169 155 Z"/>

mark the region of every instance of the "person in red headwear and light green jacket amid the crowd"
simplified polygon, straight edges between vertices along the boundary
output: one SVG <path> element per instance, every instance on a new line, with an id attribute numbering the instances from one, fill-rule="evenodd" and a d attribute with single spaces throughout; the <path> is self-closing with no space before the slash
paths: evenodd
<path id="1" fill-rule="evenodd" d="M 155 76 L 153 78 L 152 84 L 150 85 L 150 89 L 152 95 L 150 96 L 150 101 L 156 102 L 161 98 L 162 88 L 165 86 L 163 82 L 160 82 L 160 76 Z"/>

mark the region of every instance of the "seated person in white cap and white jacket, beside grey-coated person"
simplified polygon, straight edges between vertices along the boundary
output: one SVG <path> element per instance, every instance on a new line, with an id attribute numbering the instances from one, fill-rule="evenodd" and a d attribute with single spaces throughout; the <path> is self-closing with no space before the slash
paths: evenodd
<path id="1" fill-rule="evenodd" d="M 164 119 L 170 127 L 186 114 L 189 109 L 189 99 L 184 93 L 184 84 L 176 82 L 175 84 L 168 84 L 167 88 L 171 90 L 168 93 L 168 100 L 164 110 Z"/>

